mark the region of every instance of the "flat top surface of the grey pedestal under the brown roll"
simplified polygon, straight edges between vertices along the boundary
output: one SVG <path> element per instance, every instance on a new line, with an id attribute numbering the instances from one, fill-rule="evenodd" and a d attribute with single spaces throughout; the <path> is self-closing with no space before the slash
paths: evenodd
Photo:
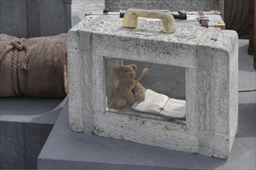
<path id="1" fill-rule="evenodd" d="M 62 97 L 0 98 L 0 121 L 54 124 L 66 100 Z"/>

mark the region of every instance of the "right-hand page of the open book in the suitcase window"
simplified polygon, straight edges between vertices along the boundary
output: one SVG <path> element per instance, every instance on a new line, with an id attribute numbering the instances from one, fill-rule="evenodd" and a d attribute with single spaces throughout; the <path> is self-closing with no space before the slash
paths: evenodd
<path id="1" fill-rule="evenodd" d="M 185 117 L 185 100 L 170 98 L 160 114 L 167 117 Z"/>

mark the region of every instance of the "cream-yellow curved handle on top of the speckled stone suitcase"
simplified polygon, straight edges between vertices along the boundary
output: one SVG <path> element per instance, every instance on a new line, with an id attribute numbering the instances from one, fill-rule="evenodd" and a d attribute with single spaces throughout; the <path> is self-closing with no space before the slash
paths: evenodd
<path id="1" fill-rule="evenodd" d="M 135 28 L 138 23 L 138 17 L 151 19 L 161 19 L 164 23 L 163 32 L 173 33 L 176 29 L 176 22 L 173 15 L 167 12 L 154 12 L 144 9 L 129 8 L 123 17 L 123 27 Z"/>

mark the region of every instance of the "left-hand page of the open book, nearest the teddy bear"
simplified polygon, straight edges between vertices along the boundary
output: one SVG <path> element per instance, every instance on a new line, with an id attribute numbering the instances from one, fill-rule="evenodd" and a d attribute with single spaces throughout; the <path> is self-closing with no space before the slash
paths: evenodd
<path id="1" fill-rule="evenodd" d="M 164 94 L 156 93 L 153 90 L 147 89 L 145 100 L 140 103 L 135 102 L 132 108 L 134 110 L 158 114 L 161 111 L 160 107 L 164 107 L 168 99 L 169 97 Z"/>

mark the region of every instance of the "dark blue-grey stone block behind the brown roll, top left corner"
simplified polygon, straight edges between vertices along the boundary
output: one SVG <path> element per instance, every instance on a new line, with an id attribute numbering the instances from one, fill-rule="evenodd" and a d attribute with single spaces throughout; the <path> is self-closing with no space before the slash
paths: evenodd
<path id="1" fill-rule="evenodd" d="M 71 29 L 72 0 L 1 0 L 0 33 L 19 38 L 54 36 Z"/>

